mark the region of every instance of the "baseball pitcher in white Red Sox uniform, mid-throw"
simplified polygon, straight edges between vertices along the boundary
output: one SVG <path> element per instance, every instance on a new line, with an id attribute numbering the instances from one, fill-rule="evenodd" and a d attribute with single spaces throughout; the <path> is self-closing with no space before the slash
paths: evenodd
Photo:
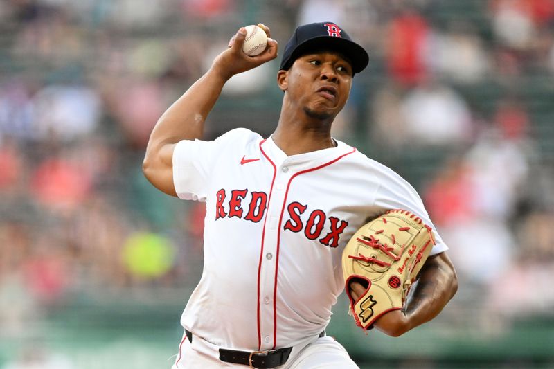
<path id="1" fill-rule="evenodd" d="M 269 36 L 269 28 L 265 28 Z M 204 201 L 204 270 L 181 317 L 172 368 L 357 368 L 325 327 L 344 289 L 341 251 L 368 217 L 402 208 L 432 226 L 413 188 L 330 135 L 364 48 L 332 22 L 296 28 L 277 74 L 284 92 L 276 129 L 263 138 L 237 128 L 202 141 L 204 120 L 227 80 L 277 56 L 255 57 L 231 38 L 211 69 L 161 116 L 143 171 L 159 190 Z M 456 291 L 435 235 L 413 298 L 375 327 L 399 336 L 434 318 Z M 361 296 L 364 285 L 350 285 Z"/>

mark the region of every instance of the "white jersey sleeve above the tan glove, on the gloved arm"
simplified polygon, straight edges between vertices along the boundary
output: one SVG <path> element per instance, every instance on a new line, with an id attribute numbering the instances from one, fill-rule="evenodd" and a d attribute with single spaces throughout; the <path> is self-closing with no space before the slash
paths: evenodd
<path id="1" fill-rule="evenodd" d="M 404 209 L 417 215 L 425 224 L 433 228 L 436 244 L 431 250 L 431 255 L 448 250 L 448 246 L 443 242 L 433 222 L 431 222 L 420 195 L 402 177 L 398 175 L 394 178 L 388 177 L 388 180 L 380 184 L 375 192 L 375 206 L 383 210 Z"/>

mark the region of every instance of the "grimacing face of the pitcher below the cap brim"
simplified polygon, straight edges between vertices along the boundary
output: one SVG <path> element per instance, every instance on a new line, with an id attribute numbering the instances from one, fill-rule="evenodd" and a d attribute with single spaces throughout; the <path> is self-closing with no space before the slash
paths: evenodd
<path id="1" fill-rule="evenodd" d="M 298 57 L 287 73 L 288 98 L 313 118 L 334 118 L 352 87 L 352 66 L 339 53 L 325 51 Z"/>

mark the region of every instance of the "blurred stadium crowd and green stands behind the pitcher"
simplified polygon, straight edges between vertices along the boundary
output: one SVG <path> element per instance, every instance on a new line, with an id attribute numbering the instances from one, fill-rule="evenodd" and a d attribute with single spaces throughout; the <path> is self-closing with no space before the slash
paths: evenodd
<path id="1" fill-rule="evenodd" d="M 554 368 L 552 0 L 0 1 L 0 368 L 170 367 L 204 210 L 145 181 L 150 130 L 239 26 L 329 20 L 370 53 L 334 136 L 413 183 L 461 284 L 400 338 L 344 299 L 328 334 L 361 368 Z M 270 134 L 277 69 L 206 138 Z"/>

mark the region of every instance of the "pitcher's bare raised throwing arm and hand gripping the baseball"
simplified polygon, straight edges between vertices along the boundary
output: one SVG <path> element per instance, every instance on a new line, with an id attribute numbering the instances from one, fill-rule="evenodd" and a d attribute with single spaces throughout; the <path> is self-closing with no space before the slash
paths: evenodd
<path id="1" fill-rule="evenodd" d="M 269 36 L 269 28 L 266 33 Z M 173 185 L 173 150 L 181 140 L 202 138 L 204 121 L 223 86 L 233 75 L 253 69 L 277 56 L 277 42 L 267 39 L 266 50 L 255 57 L 242 52 L 246 31 L 240 28 L 229 48 L 218 55 L 211 68 L 159 118 L 150 134 L 143 161 L 145 177 L 159 190 L 177 196 Z"/>

